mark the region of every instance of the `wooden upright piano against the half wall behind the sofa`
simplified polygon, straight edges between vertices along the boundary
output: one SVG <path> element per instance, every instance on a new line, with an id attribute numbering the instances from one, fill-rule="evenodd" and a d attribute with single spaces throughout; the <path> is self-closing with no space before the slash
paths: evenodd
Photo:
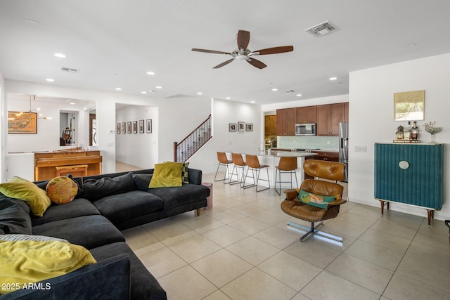
<path id="1" fill-rule="evenodd" d="M 34 153 L 34 181 L 60 175 L 83 177 L 101 174 L 100 151 L 60 150 Z"/>

